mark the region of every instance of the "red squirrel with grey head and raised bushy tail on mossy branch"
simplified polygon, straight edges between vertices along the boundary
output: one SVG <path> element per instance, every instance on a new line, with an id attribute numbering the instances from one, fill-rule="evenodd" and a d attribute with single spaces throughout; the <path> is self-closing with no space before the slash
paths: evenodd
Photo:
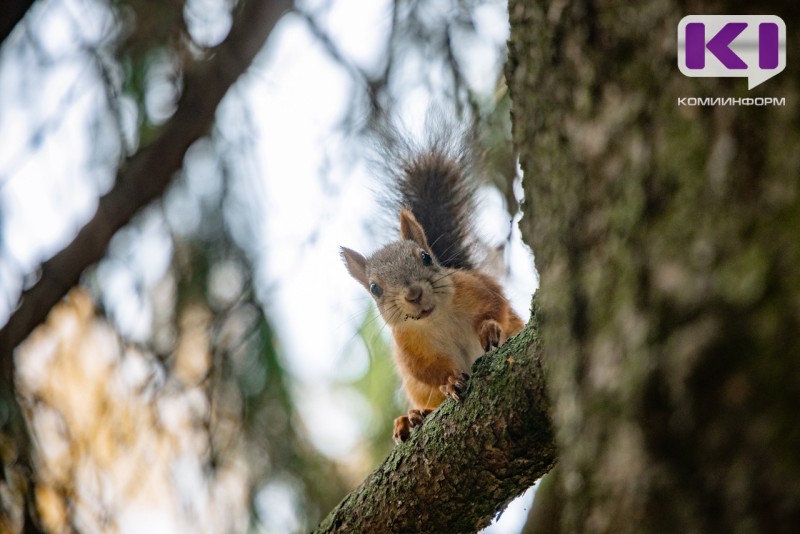
<path id="1" fill-rule="evenodd" d="M 472 364 L 524 326 L 500 284 L 479 271 L 471 243 L 474 191 L 469 150 L 440 134 L 426 147 L 383 146 L 400 239 L 369 257 L 341 247 L 350 275 L 375 300 L 395 341 L 412 408 L 394 420 L 396 443 L 447 397 L 460 402 Z"/>

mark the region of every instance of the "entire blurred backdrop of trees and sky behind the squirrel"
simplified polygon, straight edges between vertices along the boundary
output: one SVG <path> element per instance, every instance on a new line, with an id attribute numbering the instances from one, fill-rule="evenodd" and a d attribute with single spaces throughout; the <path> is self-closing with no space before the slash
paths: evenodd
<path id="1" fill-rule="evenodd" d="M 382 323 L 337 254 L 391 237 L 365 222 L 388 118 L 419 133 L 434 102 L 471 125 L 483 237 L 526 311 L 505 5 L 14 6 L 0 25 L 3 528 L 308 530 L 385 457 L 403 409 Z M 509 517 L 496 531 L 519 528 Z"/>

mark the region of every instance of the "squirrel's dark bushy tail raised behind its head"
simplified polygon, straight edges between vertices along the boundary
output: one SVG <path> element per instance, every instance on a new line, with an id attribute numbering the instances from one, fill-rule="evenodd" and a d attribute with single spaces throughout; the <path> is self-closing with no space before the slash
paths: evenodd
<path id="1" fill-rule="evenodd" d="M 382 135 L 381 164 L 393 178 L 390 204 L 395 214 L 401 207 L 411 210 L 439 263 L 474 269 L 475 186 L 469 138 L 464 129 L 432 122 L 429 118 L 422 144 L 396 130 Z"/>

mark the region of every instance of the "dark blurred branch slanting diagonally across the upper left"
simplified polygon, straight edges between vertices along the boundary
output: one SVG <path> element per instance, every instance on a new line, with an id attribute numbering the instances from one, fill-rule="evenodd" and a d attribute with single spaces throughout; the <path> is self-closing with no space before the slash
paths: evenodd
<path id="1" fill-rule="evenodd" d="M 23 293 L 19 307 L 0 330 L 0 378 L 9 381 L 14 347 L 78 283 L 83 270 L 102 258 L 114 233 L 164 192 L 186 150 L 208 131 L 222 97 L 289 7 L 287 0 L 246 2 L 230 34 L 210 59 L 187 68 L 184 93 L 161 134 L 120 168 L 116 185 L 100 199 L 94 217 L 69 245 L 42 265 L 40 280 Z"/>

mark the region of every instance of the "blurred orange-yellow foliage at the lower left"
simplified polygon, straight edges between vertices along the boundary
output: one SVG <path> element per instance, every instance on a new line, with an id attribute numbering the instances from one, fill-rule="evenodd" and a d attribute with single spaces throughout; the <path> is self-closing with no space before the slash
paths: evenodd
<path id="1" fill-rule="evenodd" d="M 176 529 L 242 530 L 245 462 L 231 450 L 229 461 L 208 469 L 210 317 L 199 304 L 181 312 L 173 361 L 164 367 L 124 343 L 75 289 L 25 342 L 19 395 L 48 531 L 113 531 L 148 509 Z"/>

